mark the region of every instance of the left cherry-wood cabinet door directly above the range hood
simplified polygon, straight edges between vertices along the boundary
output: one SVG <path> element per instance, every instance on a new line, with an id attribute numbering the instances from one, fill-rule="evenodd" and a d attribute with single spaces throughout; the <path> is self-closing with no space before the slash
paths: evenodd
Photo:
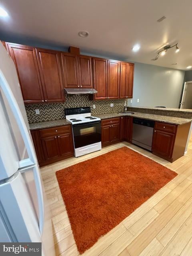
<path id="1" fill-rule="evenodd" d="M 62 52 L 62 69 L 64 74 L 64 86 L 66 88 L 77 88 L 78 82 L 77 56 Z"/>

